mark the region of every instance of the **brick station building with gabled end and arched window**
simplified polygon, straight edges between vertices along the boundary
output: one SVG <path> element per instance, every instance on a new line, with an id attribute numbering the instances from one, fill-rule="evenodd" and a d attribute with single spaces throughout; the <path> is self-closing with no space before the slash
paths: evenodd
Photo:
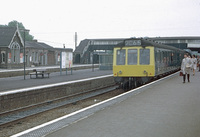
<path id="1" fill-rule="evenodd" d="M 73 52 L 70 48 L 53 48 L 34 41 L 25 42 L 25 64 L 31 66 L 49 66 L 60 64 L 60 52 Z M 19 29 L 0 27 L 0 68 L 23 68 L 24 40 Z"/>

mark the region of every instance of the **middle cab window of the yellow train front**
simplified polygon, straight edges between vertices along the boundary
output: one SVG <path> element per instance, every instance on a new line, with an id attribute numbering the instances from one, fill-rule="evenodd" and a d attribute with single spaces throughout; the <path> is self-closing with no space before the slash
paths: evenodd
<path id="1" fill-rule="evenodd" d="M 137 49 L 128 50 L 128 65 L 137 65 Z"/>

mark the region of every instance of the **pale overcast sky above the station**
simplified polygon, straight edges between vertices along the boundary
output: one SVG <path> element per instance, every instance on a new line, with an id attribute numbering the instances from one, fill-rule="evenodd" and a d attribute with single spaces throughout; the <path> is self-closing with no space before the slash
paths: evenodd
<path id="1" fill-rule="evenodd" d="M 1 0 L 0 24 L 22 22 L 38 41 L 200 36 L 200 0 Z"/>

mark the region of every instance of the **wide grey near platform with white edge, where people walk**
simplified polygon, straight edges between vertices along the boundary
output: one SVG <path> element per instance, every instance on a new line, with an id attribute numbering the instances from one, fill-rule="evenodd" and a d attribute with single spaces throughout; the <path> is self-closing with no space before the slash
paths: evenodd
<path id="1" fill-rule="evenodd" d="M 13 137 L 199 137 L 199 84 L 176 73 Z"/>

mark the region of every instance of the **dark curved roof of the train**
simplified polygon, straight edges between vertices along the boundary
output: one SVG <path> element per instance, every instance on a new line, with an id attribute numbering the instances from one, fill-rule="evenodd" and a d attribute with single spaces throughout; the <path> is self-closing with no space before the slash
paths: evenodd
<path id="1" fill-rule="evenodd" d="M 175 48 L 173 46 L 164 45 L 164 44 L 154 42 L 151 40 L 147 40 L 147 39 L 143 39 L 143 38 L 125 39 L 123 42 L 117 44 L 115 47 L 134 47 L 134 46 L 142 46 L 143 48 L 145 48 L 146 46 L 153 46 L 153 47 L 157 47 L 157 48 L 183 51 L 182 49 Z"/>

